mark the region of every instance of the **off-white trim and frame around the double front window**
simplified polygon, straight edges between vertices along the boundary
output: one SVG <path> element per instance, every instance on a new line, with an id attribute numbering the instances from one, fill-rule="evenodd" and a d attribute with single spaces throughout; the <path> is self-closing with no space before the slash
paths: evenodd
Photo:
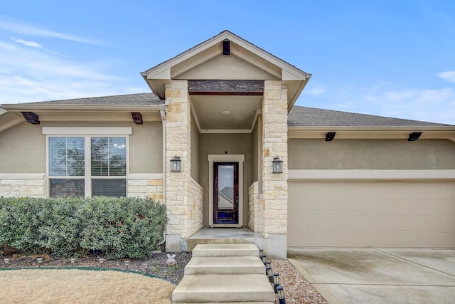
<path id="1" fill-rule="evenodd" d="M 68 133 L 63 133 L 60 130 L 65 130 Z M 88 134 L 78 133 L 81 131 L 87 131 Z M 114 131 L 119 133 L 114 133 Z M 45 137 L 45 171 L 46 179 L 48 182 L 48 187 L 46 187 L 45 192 L 48 197 L 50 197 L 50 179 L 84 179 L 85 187 L 85 197 L 92 196 L 92 179 L 125 179 L 126 189 L 125 196 L 128 196 L 128 177 L 129 177 L 129 135 L 131 135 L 131 127 L 43 127 L 43 134 Z M 84 138 L 84 158 L 85 158 L 85 174 L 83 176 L 55 176 L 49 175 L 49 137 L 83 137 Z M 123 137 L 126 139 L 127 151 L 126 151 L 126 160 L 127 160 L 127 171 L 123 176 L 95 176 L 92 177 L 92 159 L 91 159 L 91 139 L 92 137 Z M 88 161 L 87 161 L 88 160 Z"/>

